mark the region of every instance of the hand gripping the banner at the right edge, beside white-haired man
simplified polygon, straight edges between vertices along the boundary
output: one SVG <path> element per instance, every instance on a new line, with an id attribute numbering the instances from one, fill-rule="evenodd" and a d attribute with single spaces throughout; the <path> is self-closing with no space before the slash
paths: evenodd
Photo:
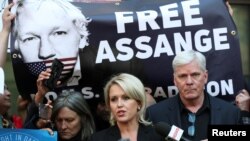
<path id="1" fill-rule="evenodd" d="M 250 124 L 250 95 L 246 89 L 236 95 L 235 104 L 241 110 L 243 124 Z"/>

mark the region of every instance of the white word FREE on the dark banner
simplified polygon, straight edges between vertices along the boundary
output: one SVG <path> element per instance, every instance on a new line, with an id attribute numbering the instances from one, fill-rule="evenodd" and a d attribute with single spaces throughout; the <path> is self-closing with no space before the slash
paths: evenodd
<path id="1" fill-rule="evenodd" d="M 192 1 L 183 1 L 181 2 L 182 10 L 184 11 L 184 25 L 185 26 L 194 26 L 194 25 L 202 25 L 203 19 L 200 16 L 199 9 L 199 0 Z M 180 8 L 178 9 L 177 3 L 167 4 L 164 6 L 160 6 L 160 14 L 162 15 L 162 25 L 164 29 L 167 28 L 176 28 L 182 27 L 181 18 L 179 16 Z M 138 28 L 139 31 L 146 31 L 147 25 L 152 30 L 160 29 L 160 26 L 156 22 L 156 18 L 158 17 L 157 11 L 147 10 L 140 12 L 115 12 L 116 24 L 117 24 L 117 33 L 125 33 L 126 32 L 126 24 L 131 24 L 134 21 L 134 13 L 136 13 L 138 19 Z"/>

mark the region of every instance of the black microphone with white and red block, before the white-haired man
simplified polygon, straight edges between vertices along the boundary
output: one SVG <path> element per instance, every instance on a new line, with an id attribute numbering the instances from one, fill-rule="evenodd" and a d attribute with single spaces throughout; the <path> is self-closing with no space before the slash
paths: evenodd
<path id="1" fill-rule="evenodd" d="M 165 137 L 166 141 L 191 141 L 186 137 L 182 136 L 184 130 L 175 125 L 170 126 L 165 122 L 158 122 L 154 125 L 154 128 L 157 133 Z"/>

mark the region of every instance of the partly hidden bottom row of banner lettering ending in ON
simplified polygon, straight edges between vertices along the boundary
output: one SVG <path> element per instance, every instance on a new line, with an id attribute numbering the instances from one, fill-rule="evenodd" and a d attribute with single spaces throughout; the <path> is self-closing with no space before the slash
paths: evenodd
<path id="1" fill-rule="evenodd" d="M 209 81 L 205 87 L 207 93 L 211 96 L 218 96 L 219 94 L 221 94 L 222 96 L 234 94 L 232 79 L 220 80 L 219 82 Z M 92 90 L 93 90 L 92 87 L 82 88 L 82 94 L 84 95 L 85 99 L 99 97 L 99 94 L 95 94 Z M 176 86 L 167 86 L 167 91 L 166 91 L 164 90 L 164 87 L 156 86 L 154 90 L 152 90 L 152 88 L 150 87 L 145 87 L 145 92 L 151 94 L 155 98 L 169 98 L 178 94 L 178 89 Z"/>

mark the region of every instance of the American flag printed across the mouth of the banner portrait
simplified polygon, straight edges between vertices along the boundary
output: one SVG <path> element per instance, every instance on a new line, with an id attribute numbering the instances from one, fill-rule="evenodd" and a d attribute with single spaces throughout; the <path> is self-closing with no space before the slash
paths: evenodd
<path id="1" fill-rule="evenodd" d="M 62 58 L 59 60 L 64 64 L 60 78 L 64 78 L 73 71 L 77 57 Z M 53 60 L 44 60 L 41 62 L 26 63 L 26 65 L 33 75 L 38 76 L 42 71 L 45 71 L 47 68 L 50 68 L 52 62 Z"/>

